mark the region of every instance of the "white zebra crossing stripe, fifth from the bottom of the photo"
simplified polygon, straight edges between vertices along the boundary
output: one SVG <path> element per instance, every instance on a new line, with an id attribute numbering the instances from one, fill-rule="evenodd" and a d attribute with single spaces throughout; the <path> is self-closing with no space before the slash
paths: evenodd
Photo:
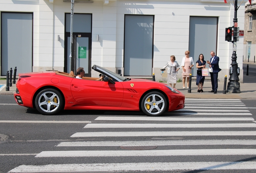
<path id="1" fill-rule="evenodd" d="M 238 128 L 256 127 L 256 123 L 229 124 L 87 124 L 84 128 Z"/>

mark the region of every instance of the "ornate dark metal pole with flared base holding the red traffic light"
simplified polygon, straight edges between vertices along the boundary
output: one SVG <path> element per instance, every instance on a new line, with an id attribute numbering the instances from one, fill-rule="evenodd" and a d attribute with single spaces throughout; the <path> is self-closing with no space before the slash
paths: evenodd
<path id="1" fill-rule="evenodd" d="M 236 50 L 237 50 L 237 0 L 234 2 L 235 7 L 235 15 L 233 18 L 234 22 L 234 32 L 233 32 L 233 54 L 231 57 L 231 67 L 229 68 L 229 82 L 227 83 L 227 93 L 241 93 L 240 91 L 240 83 L 239 83 L 239 74 L 240 68 L 236 62 Z M 238 33 L 239 36 L 239 33 Z"/>

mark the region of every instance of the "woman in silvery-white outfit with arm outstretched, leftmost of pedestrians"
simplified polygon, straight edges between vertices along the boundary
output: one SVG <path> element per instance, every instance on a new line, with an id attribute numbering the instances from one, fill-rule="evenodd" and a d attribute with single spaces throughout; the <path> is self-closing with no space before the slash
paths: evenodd
<path id="1" fill-rule="evenodd" d="M 173 88 L 177 83 L 176 73 L 180 69 L 180 66 L 177 61 L 175 61 L 175 56 L 171 55 L 171 61 L 168 61 L 167 64 L 163 67 L 165 69 L 167 67 L 167 82 L 171 86 L 173 84 Z"/>

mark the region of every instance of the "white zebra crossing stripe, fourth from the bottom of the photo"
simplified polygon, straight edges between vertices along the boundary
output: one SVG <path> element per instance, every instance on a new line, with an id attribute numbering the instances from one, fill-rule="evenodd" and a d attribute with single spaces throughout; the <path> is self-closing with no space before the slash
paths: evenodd
<path id="1" fill-rule="evenodd" d="M 141 136 L 256 136 L 256 131 L 136 131 L 78 132 L 71 137 L 141 137 Z"/>

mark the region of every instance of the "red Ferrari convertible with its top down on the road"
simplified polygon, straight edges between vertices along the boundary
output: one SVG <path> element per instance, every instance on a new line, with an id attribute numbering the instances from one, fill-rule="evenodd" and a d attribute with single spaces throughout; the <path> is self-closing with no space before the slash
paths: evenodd
<path id="1" fill-rule="evenodd" d="M 55 115 L 64 110 L 143 111 L 159 116 L 165 111 L 184 108 L 185 97 L 179 91 L 160 82 L 125 78 L 94 65 L 104 80 L 58 71 L 19 74 L 16 102 L 36 108 L 43 115 Z"/>

